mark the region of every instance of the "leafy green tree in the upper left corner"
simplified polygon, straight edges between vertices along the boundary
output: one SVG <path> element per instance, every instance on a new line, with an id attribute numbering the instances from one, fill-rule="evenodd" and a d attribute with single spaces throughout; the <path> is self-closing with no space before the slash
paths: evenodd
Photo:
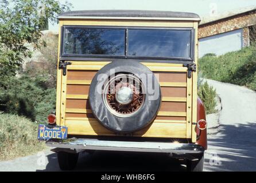
<path id="1" fill-rule="evenodd" d="M 2 0 L 0 2 L 0 76 L 15 75 L 25 57 L 45 46 L 41 38 L 47 20 L 69 10 L 56 0 Z M 32 47 L 32 49 L 31 49 Z"/>

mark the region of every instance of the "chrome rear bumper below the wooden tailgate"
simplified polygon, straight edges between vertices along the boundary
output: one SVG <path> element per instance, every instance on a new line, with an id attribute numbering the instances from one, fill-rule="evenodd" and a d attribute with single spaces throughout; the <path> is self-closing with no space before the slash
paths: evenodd
<path id="1" fill-rule="evenodd" d="M 156 153 L 203 153 L 197 144 L 177 144 L 172 142 L 105 141 L 91 138 L 71 138 L 68 140 L 48 140 L 46 145 L 55 148 L 76 150 L 111 150 L 125 152 Z"/>

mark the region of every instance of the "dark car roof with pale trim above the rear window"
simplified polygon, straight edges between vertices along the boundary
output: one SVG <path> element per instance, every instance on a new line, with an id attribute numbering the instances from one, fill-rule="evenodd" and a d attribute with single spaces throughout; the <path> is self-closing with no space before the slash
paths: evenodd
<path id="1" fill-rule="evenodd" d="M 200 21 L 195 13 L 154 10 L 83 10 L 67 11 L 59 19 L 170 19 Z"/>

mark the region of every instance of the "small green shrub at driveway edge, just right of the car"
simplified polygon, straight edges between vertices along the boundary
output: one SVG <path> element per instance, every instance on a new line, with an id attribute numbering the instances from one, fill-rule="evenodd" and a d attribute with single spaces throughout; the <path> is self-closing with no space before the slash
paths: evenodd
<path id="1" fill-rule="evenodd" d="M 214 87 L 209 86 L 207 82 L 204 82 L 199 86 L 197 94 L 200 97 L 200 99 L 204 102 L 206 113 L 215 113 L 215 107 L 217 105 L 215 98 L 217 94 Z"/>

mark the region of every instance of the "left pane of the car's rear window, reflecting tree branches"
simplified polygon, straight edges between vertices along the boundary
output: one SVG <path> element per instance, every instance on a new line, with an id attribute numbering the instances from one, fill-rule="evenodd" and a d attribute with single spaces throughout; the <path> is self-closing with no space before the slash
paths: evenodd
<path id="1" fill-rule="evenodd" d="M 125 29 L 68 27 L 63 54 L 125 55 Z"/>

